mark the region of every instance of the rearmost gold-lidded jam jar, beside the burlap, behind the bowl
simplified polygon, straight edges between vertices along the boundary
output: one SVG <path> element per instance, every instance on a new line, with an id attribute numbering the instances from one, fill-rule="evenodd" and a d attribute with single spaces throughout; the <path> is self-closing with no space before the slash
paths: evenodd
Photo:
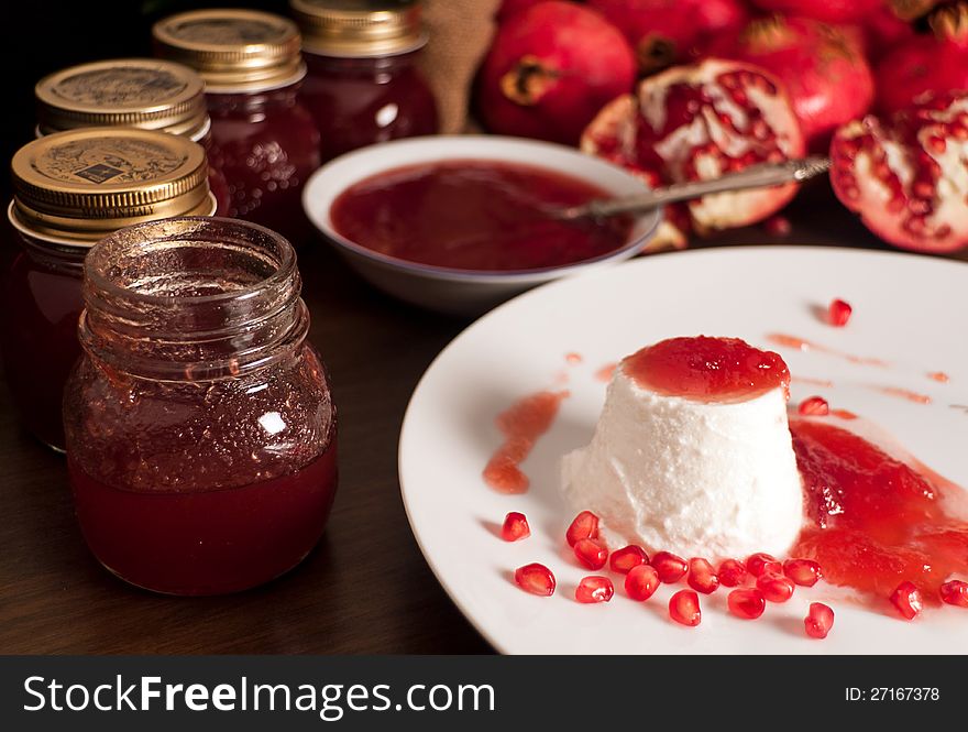
<path id="1" fill-rule="evenodd" d="M 427 34 L 419 2 L 290 0 L 308 74 L 301 97 L 326 162 L 358 148 L 439 131 L 417 69 Z"/>

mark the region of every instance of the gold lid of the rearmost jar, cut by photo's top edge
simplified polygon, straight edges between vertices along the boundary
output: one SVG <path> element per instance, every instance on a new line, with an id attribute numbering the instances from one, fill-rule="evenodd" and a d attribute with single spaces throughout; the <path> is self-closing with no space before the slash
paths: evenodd
<path id="1" fill-rule="evenodd" d="M 427 43 L 416 0 L 289 0 L 302 47 L 327 56 L 392 56 Z"/>

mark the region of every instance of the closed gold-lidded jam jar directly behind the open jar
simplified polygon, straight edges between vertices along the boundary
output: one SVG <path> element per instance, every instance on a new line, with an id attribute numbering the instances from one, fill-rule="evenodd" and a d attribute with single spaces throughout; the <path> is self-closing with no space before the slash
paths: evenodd
<path id="1" fill-rule="evenodd" d="M 64 449 L 64 384 L 80 356 L 84 258 L 101 237 L 166 216 L 210 215 L 205 151 L 184 138 L 87 128 L 35 140 L 11 163 L 8 218 L 21 251 L 7 272 L 0 346 L 26 429 Z"/>

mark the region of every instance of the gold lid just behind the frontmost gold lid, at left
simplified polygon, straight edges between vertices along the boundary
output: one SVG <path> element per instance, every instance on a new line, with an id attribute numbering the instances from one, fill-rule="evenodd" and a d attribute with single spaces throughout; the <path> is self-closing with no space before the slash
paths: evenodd
<path id="1" fill-rule="evenodd" d="M 41 134 L 85 127 L 136 127 L 197 140 L 209 124 L 205 81 L 187 66 L 118 58 L 72 66 L 34 87 Z"/>

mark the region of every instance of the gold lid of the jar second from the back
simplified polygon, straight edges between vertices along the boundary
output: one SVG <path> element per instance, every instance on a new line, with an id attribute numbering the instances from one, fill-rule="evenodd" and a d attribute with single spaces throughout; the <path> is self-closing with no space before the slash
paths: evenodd
<path id="1" fill-rule="evenodd" d="M 152 35 L 157 55 L 197 70 L 208 91 L 264 91 L 306 74 L 299 30 L 272 13 L 195 10 L 158 21 Z"/>

